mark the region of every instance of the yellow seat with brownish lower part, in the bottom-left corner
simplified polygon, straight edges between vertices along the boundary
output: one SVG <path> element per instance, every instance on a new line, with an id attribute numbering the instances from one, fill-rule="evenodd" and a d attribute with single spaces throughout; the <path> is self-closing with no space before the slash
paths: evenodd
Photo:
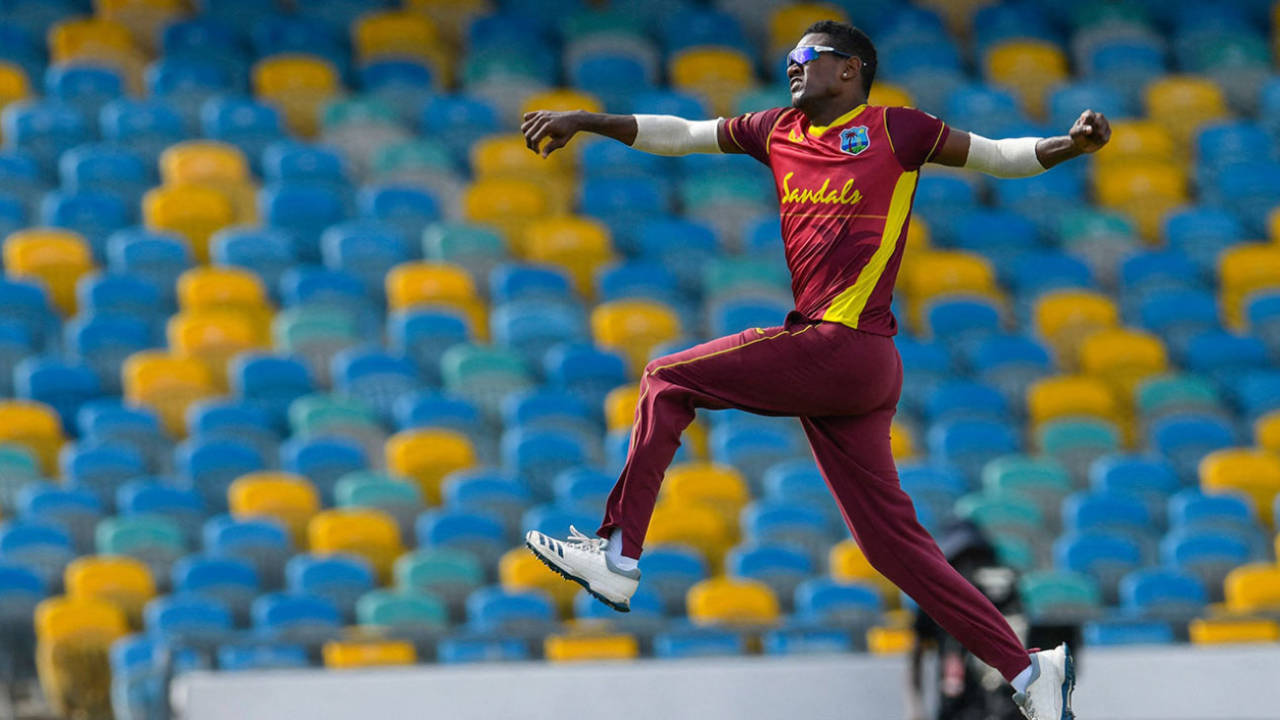
<path id="1" fill-rule="evenodd" d="M 128 626 L 114 605 L 52 597 L 36 607 L 36 670 L 59 717 L 110 717 L 108 652 Z"/>

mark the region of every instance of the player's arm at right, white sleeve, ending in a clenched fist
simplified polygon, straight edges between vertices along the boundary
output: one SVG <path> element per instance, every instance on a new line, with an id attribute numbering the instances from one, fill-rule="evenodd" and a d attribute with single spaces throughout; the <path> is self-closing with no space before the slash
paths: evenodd
<path id="1" fill-rule="evenodd" d="M 1023 178 L 1085 152 L 1097 152 L 1108 140 L 1111 123 L 1106 115 L 1085 110 L 1071 124 L 1068 135 L 1056 137 L 988 140 L 952 128 L 932 161 L 1000 178 Z"/>

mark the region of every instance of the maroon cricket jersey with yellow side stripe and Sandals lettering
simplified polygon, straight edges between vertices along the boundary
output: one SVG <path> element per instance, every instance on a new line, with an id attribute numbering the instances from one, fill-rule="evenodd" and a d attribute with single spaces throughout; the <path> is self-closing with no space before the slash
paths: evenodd
<path id="1" fill-rule="evenodd" d="M 730 118 L 726 129 L 773 170 L 796 311 L 895 334 L 890 302 L 915 183 L 947 124 L 911 108 L 859 105 L 826 127 L 774 108 Z"/>

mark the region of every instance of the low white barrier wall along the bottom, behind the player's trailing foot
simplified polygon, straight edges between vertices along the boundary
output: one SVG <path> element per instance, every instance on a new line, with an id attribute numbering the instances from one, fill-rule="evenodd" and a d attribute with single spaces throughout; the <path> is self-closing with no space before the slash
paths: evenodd
<path id="1" fill-rule="evenodd" d="M 1083 653 L 1080 720 L 1277 720 L 1280 646 Z M 867 655 L 627 664 L 421 665 L 184 676 L 186 720 L 712 720 L 904 716 L 905 659 Z"/>

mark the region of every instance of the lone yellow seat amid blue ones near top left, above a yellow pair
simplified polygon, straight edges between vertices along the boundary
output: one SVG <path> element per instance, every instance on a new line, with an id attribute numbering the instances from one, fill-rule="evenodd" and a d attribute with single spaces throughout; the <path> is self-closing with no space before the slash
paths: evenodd
<path id="1" fill-rule="evenodd" d="M 324 58 L 303 54 L 273 55 L 253 65 L 253 92 L 280 109 L 293 132 L 312 137 L 320 110 L 342 91 L 338 70 Z"/>

